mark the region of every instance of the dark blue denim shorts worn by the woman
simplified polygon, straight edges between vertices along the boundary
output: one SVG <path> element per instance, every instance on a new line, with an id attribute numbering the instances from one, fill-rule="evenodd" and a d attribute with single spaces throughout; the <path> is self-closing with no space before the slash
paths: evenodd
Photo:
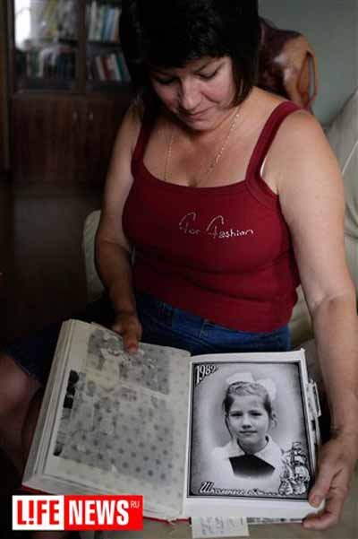
<path id="1" fill-rule="evenodd" d="M 198 355 L 222 352 L 286 352 L 290 348 L 288 326 L 271 332 L 251 333 L 230 329 L 176 309 L 145 292 L 136 292 L 137 311 L 143 329 L 144 343 L 182 348 Z M 107 299 L 90 303 L 83 312 L 72 318 L 110 326 L 115 312 Z M 62 322 L 46 326 L 37 333 L 18 339 L 4 347 L 30 376 L 45 385 Z"/>

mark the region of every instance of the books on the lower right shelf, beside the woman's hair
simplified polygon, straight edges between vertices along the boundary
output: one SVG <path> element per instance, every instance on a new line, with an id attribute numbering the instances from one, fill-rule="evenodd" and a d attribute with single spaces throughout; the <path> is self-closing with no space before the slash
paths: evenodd
<path id="1" fill-rule="evenodd" d="M 91 57 L 88 72 L 90 80 L 94 81 L 115 81 L 116 83 L 129 83 L 131 81 L 131 75 L 122 52 Z"/>

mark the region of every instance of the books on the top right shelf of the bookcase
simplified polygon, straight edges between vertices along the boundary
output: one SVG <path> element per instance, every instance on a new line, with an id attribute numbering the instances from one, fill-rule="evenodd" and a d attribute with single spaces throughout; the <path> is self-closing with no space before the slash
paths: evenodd
<path id="1" fill-rule="evenodd" d="M 88 38 L 91 41 L 119 41 L 119 5 L 98 4 L 92 0 L 87 7 Z"/>

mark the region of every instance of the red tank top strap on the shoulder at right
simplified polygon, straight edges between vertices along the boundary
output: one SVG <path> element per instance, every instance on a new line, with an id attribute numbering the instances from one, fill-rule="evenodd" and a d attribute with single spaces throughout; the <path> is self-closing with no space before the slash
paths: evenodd
<path id="1" fill-rule="evenodd" d="M 300 107 L 295 105 L 292 101 L 284 101 L 283 103 L 277 105 L 276 109 L 273 109 L 268 117 L 268 120 L 263 126 L 259 139 L 251 154 L 251 159 L 246 174 L 247 178 L 250 178 L 251 174 L 255 172 L 255 170 L 260 170 L 279 127 L 284 119 L 295 110 L 300 110 Z"/>

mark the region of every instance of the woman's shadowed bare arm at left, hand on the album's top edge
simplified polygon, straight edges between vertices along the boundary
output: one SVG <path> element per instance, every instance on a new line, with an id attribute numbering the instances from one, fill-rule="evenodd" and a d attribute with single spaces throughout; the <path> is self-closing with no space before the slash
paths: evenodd
<path id="1" fill-rule="evenodd" d="M 122 214 L 132 187 L 132 152 L 140 126 L 138 111 L 129 109 L 115 139 L 96 235 L 98 274 L 116 313 L 112 328 L 122 335 L 124 348 L 129 352 L 138 348 L 141 324 L 132 290 L 132 249 L 124 236 Z"/>

